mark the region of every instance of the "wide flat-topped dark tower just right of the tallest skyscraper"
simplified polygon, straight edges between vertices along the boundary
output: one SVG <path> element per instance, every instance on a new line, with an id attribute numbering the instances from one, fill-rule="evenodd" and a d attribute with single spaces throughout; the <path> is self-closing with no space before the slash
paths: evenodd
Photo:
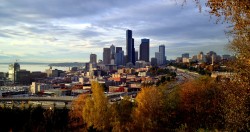
<path id="1" fill-rule="evenodd" d="M 140 60 L 149 62 L 149 39 L 141 39 Z"/>

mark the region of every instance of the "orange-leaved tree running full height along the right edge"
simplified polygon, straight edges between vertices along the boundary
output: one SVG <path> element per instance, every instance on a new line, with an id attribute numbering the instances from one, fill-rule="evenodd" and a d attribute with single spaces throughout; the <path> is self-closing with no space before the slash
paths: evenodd
<path id="1" fill-rule="evenodd" d="M 202 2 L 200 0 L 194 1 L 201 9 Z M 226 90 L 225 92 L 231 96 L 226 101 L 228 102 L 228 112 L 231 113 L 226 113 L 227 116 L 230 115 L 230 117 L 227 117 L 227 123 L 238 124 L 238 128 L 237 126 L 228 128 L 249 130 L 250 125 L 249 123 L 246 125 L 245 122 L 250 122 L 250 0 L 207 0 L 205 6 L 209 8 L 208 11 L 211 16 L 218 18 L 218 22 L 230 25 L 227 28 L 227 35 L 230 38 L 228 47 L 236 56 L 236 59 L 228 65 L 236 73 L 236 76 L 230 82 L 230 85 L 224 85 L 223 87 Z M 238 93 L 239 91 L 241 93 Z M 239 94 L 243 95 L 239 99 L 240 103 L 231 105 L 235 104 L 235 100 L 230 100 L 230 98 L 236 98 L 237 100 Z M 238 115 L 237 111 L 232 109 L 237 109 L 242 114 Z M 243 127 L 240 124 L 245 124 L 248 127 Z"/>

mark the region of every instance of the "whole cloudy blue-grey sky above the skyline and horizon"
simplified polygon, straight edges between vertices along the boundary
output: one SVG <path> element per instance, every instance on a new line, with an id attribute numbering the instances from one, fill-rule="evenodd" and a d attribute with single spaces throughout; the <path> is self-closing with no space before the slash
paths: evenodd
<path id="1" fill-rule="evenodd" d="M 182 0 L 0 0 L 0 63 L 88 62 L 103 48 L 126 47 L 133 31 L 135 50 L 150 39 L 150 57 L 159 45 L 167 59 L 200 51 L 228 54 L 226 25 L 206 8 Z"/>

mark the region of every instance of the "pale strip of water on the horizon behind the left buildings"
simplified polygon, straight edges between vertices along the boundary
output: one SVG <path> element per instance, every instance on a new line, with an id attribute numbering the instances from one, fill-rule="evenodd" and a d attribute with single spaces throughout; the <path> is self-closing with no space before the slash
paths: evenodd
<path id="1" fill-rule="evenodd" d="M 20 63 L 19 63 L 20 64 Z M 46 69 L 49 69 L 49 64 L 20 64 L 21 70 L 27 70 L 27 71 L 41 71 L 45 72 Z M 68 70 L 69 67 L 52 67 L 52 69 L 58 69 L 58 70 Z M 9 70 L 9 64 L 0 64 L 0 72 L 8 72 Z"/>

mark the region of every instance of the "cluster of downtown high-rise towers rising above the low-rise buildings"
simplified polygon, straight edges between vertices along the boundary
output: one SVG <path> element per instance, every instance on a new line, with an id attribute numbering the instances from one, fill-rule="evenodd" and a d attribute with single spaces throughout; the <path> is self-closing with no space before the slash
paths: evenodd
<path id="1" fill-rule="evenodd" d="M 97 62 L 97 55 L 90 54 L 89 64 L 95 64 L 117 67 L 145 67 L 160 66 L 166 64 L 165 45 L 159 46 L 159 52 L 150 60 L 150 39 L 141 39 L 139 50 L 135 49 L 135 40 L 132 30 L 126 31 L 126 49 L 115 47 L 113 44 L 109 48 L 103 48 L 103 58 Z M 87 64 L 86 67 L 89 67 Z"/>

